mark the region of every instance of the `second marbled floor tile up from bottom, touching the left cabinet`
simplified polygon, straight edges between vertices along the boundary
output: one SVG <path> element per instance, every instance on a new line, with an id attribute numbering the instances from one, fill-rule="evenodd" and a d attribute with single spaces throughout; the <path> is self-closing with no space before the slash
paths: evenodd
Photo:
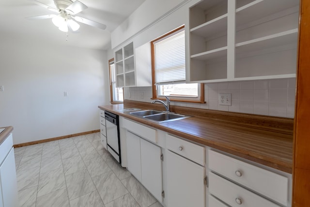
<path id="1" fill-rule="evenodd" d="M 39 182 L 40 166 L 16 171 L 17 190 L 25 190 L 37 186 Z"/>

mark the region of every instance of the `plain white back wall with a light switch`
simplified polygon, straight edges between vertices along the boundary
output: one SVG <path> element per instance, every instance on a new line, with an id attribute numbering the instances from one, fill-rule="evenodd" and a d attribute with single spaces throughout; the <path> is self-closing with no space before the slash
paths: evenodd
<path id="1" fill-rule="evenodd" d="M 99 129 L 107 52 L 13 38 L 0 45 L 0 126 L 14 127 L 15 144 Z"/>

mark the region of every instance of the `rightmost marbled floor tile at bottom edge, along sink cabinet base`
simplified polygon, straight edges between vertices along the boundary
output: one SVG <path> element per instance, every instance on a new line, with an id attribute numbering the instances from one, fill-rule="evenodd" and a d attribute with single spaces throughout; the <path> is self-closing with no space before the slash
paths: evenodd
<path id="1" fill-rule="evenodd" d="M 156 202 L 153 195 L 134 176 L 122 180 L 122 183 L 141 207 L 149 207 Z"/>

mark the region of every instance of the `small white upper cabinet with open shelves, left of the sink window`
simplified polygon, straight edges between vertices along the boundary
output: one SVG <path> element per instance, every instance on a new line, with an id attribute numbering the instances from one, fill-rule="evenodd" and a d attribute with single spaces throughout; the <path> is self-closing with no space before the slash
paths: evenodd
<path id="1" fill-rule="evenodd" d="M 133 42 L 115 51 L 117 87 L 151 86 L 151 46 L 134 48 Z"/>

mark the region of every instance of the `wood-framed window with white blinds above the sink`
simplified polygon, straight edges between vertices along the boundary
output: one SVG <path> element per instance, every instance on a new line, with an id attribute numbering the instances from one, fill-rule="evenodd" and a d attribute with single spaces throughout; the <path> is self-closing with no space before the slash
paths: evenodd
<path id="1" fill-rule="evenodd" d="M 184 26 L 151 42 L 153 98 L 204 102 L 203 84 L 185 83 Z"/>

